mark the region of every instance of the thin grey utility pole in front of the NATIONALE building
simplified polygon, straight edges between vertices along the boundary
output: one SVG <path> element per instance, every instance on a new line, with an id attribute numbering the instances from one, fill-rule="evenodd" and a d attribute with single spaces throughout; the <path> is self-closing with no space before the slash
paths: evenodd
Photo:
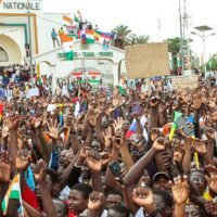
<path id="1" fill-rule="evenodd" d="M 28 0 L 28 41 L 29 41 L 29 66 L 30 66 L 30 81 L 31 88 L 35 87 L 34 82 L 34 66 L 33 66 L 33 46 L 31 46 L 31 30 L 30 30 L 30 10 L 29 10 L 29 0 Z"/>

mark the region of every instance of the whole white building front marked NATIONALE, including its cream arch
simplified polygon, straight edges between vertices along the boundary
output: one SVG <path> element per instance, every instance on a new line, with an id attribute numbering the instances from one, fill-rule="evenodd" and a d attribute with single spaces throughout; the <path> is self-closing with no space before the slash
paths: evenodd
<path id="1" fill-rule="evenodd" d="M 29 0 L 29 3 L 28 0 L 1 0 L 0 48 L 7 53 L 8 61 L 0 59 L 0 66 L 25 62 L 25 46 L 29 44 L 28 16 L 33 55 L 53 49 L 51 31 L 61 28 L 63 14 L 43 13 L 42 0 Z"/>

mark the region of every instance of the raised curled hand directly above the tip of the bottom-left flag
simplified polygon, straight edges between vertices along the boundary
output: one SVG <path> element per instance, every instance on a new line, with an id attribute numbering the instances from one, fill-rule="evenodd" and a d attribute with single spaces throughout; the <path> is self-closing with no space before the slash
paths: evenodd
<path id="1" fill-rule="evenodd" d="M 30 164 L 31 153 L 27 149 L 20 150 L 16 154 L 16 169 L 26 170 Z"/>

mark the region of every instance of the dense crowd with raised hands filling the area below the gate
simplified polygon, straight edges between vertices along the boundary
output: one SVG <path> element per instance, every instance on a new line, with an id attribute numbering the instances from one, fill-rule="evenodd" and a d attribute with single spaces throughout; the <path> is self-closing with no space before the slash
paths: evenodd
<path id="1" fill-rule="evenodd" d="M 0 216 L 217 216 L 215 84 L 49 88 L 1 99 Z"/>

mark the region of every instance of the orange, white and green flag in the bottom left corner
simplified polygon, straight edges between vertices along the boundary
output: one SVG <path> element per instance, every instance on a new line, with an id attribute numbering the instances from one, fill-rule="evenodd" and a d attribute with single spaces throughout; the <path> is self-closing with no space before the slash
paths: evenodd
<path id="1" fill-rule="evenodd" d="M 11 182 L 9 190 L 7 191 L 7 194 L 3 199 L 3 202 L 1 204 L 3 215 L 7 215 L 8 208 L 9 208 L 9 202 L 10 200 L 17 200 L 21 205 L 21 213 L 24 216 L 23 212 L 23 203 L 22 203 L 22 196 L 21 196 L 21 182 L 20 182 L 20 174 L 17 174 L 13 181 Z"/>

